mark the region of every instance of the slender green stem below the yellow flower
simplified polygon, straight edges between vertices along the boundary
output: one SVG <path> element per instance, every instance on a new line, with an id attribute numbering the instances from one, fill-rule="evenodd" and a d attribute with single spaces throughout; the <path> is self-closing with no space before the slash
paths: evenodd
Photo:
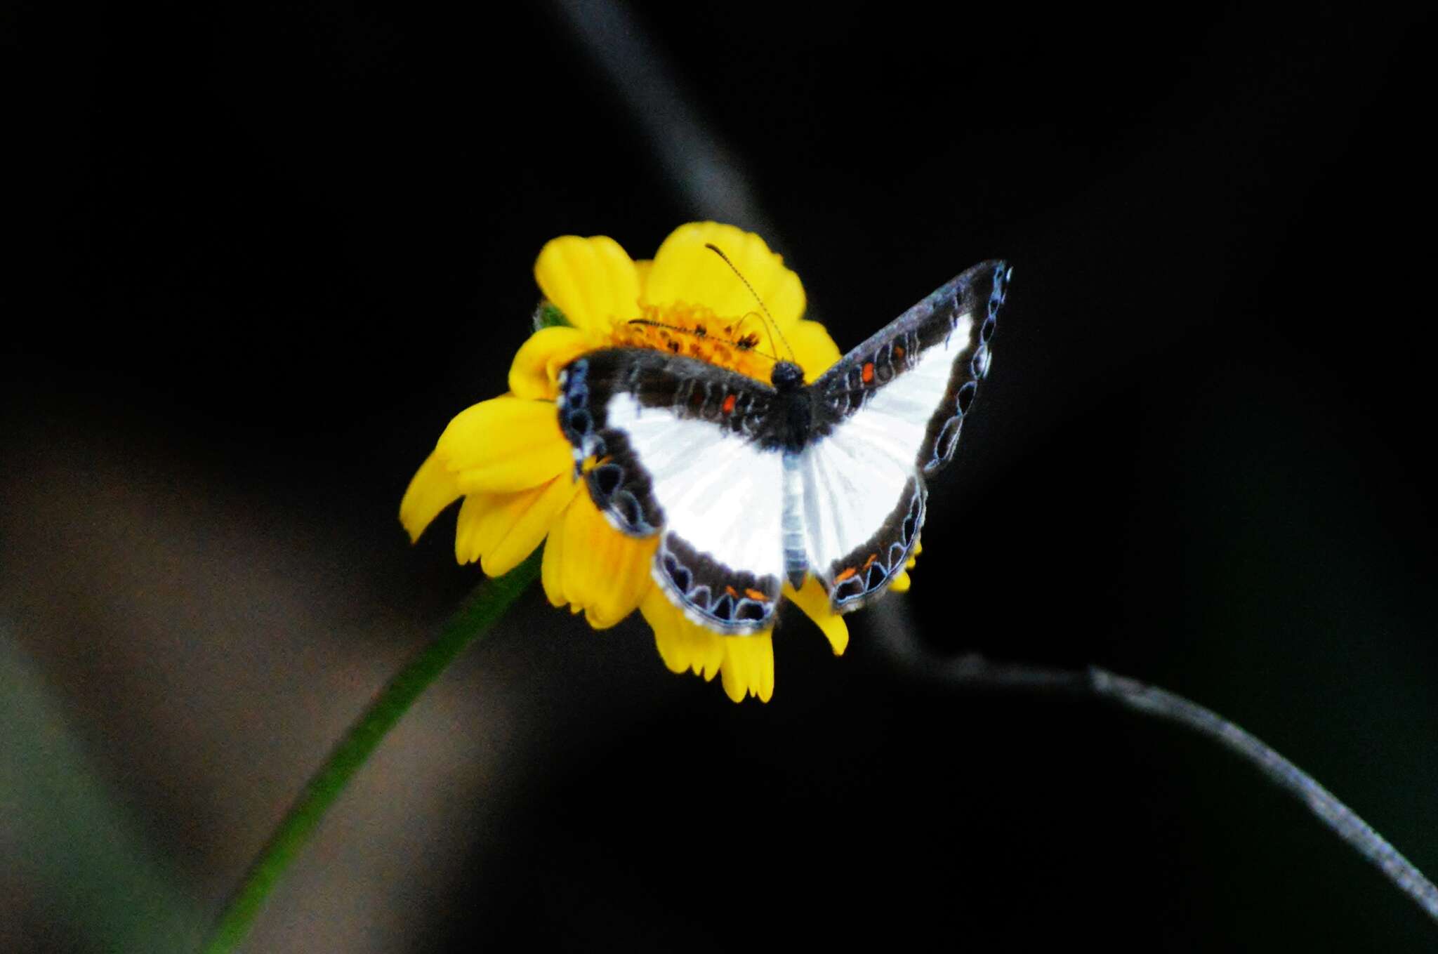
<path id="1" fill-rule="evenodd" d="M 319 819 L 345 790 L 361 766 L 370 760 L 394 724 L 410 711 L 414 700 L 464 651 L 469 644 L 505 615 L 510 603 L 539 576 L 541 550 L 503 576 L 486 580 L 444 625 L 439 638 L 390 680 L 358 721 L 339 740 L 329 759 L 311 777 L 295 799 L 269 842 L 250 865 L 244 881 L 230 897 L 224 912 L 206 944 L 206 954 L 233 951 L 259 915 L 265 899 L 283 876 L 290 862 L 315 832 Z"/>

